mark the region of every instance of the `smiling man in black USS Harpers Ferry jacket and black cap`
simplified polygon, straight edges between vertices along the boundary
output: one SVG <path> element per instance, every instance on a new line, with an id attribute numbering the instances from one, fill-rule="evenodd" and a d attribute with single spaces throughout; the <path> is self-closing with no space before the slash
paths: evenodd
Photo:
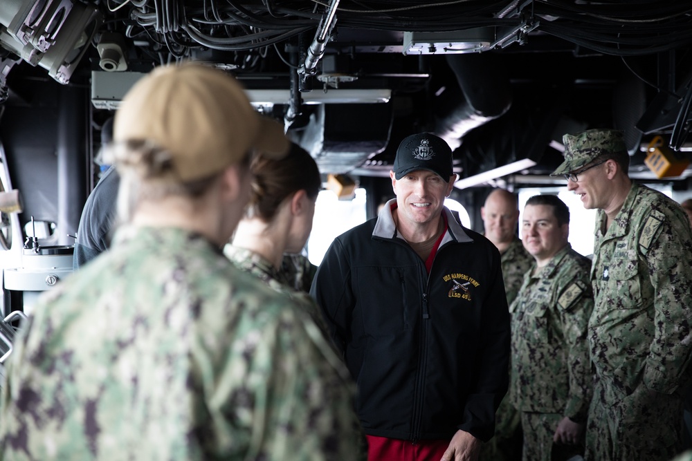
<path id="1" fill-rule="evenodd" d="M 475 460 L 507 392 L 500 254 L 444 207 L 446 142 L 408 136 L 397 198 L 331 244 L 311 293 L 358 384 L 370 460 Z"/>

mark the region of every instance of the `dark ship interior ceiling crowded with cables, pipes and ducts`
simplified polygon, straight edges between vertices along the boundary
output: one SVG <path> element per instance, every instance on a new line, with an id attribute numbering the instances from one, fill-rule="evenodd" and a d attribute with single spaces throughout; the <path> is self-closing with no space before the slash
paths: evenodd
<path id="1" fill-rule="evenodd" d="M 489 187 L 564 186 L 562 135 L 599 127 L 624 131 L 630 176 L 686 191 L 691 49 L 689 1 L 2 0 L 3 187 L 22 227 L 71 243 L 102 124 L 143 73 L 193 59 L 241 79 L 325 178 L 379 198 L 419 131 L 453 147 L 476 211 Z"/>

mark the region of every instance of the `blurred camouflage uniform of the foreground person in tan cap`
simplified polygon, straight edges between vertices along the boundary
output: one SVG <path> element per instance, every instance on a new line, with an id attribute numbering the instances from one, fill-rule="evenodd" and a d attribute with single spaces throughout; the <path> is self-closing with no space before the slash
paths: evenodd
<path id="1" fill-rule="evenodd" d="M 46 293 L 8 364 L 5 460 L 355 460 L 348 373 L 205 238 L 122 228 Z"/>

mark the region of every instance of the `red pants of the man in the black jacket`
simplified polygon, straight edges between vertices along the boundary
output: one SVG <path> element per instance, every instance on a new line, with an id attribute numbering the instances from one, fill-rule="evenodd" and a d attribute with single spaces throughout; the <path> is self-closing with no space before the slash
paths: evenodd
<path id="1" fill-rule="evenodd" d="M 388 439 L 367 435 L 367 461 L 439 461 L 449 440 Z"/>

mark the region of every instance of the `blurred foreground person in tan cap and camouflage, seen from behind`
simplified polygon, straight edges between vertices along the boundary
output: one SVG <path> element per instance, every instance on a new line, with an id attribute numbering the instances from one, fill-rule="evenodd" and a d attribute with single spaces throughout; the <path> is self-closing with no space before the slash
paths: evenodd
<path id="1" fill-rule="evenodd" d="M 116 115 L 113 246 L 37 303 L 8 364 L 3 460 L 355 460 L 348 373 L 221 247 L 280 124 L 234 79 L 165 66 Z"/>

